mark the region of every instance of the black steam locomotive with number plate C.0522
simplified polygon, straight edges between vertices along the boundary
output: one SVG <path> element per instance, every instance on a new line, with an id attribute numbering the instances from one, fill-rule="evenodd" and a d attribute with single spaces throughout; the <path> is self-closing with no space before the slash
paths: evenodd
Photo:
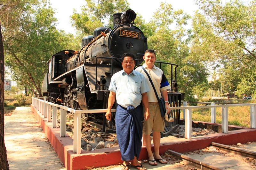
<path id="1" fill-rule="evenodd" d="M 136 13 L 130 9 L 124 13 L 115 13 L 113 30 L 110 27 L 96 28 L 93 36 L 88 35 L 82 39 L 80 51 L 63 50 L 52 55 L 47 62 L 49 69 L 42 85 L 46 100 L 76 110 L 106 109 L 110 79 L 114 73 L 122 70 L 121 55 L 126 52 L 134 54 L 139 65 L 148 49 L 147 38 L 133 25 L 135 18 Z M 161 64 L 160 62 L 160 67 Z M 175 79 L 168 98 L 173 106 L 175 102 L 176 106 L 180 106 L 184 93 L 177 92 L 178 65 L 166 64 L 170 64 L 175 70 Z M 176 112 L 175 123 L 178 124 L 180 112 Z M 103 131 L 115 132 L 115 113 L 108 122 L 105 113 L 82 114 L 82 117 L 84 121 L 102 128 Z"/>

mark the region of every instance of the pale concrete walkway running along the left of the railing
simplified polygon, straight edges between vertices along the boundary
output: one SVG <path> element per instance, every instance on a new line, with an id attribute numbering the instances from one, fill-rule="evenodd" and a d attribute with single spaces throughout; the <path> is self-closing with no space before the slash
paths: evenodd
<path id="1" fill-rule="evenodd" d="M 10 170 L 65 170 L 30 107 L 16 107 L 4 124 Z"/>

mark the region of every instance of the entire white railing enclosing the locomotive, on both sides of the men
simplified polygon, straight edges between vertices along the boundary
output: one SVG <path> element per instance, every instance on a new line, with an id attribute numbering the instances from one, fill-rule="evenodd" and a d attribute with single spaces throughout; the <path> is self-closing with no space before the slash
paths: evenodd
<path id="1" fill-rule="evenodd" d="M 74 141 L 73 141 L 73 152 L 81 153 L 81 121 L 82 113 L 106 113 L 107 109 L 99 110 L 74 110 L 72 108 L 50 103 L 37 98 L 32 98 L 32 105 L 36 107 L 39 113 L 47 118 L 47 122 L 51 122 L 52 128 L 57 128 L 57 108 L 60 108 L 60 137 L 66 137 L 66 115 L 67 111 L 74 114 Z M 185 138 L 192 139 L 192 109 L 199 108 L 211 108 L 211 123 L 216 123 L 216 107 L 222 107 L 222 121 L 221 131 L 222 133 L 228 133 L 228 107 L 237 106 L 250 106 L 250 119 L 251 128 L 256 129 L 256 103 L 252 104 L 228 104 L 228 105 L 215 105 L 211 103 L 211 106 L 188 106 L 187 102 L 183 102 L 183 117 L 185 119 Z M 171 107 L 171 110 L 181 109 L 181 107 Z M 111 109 L 111 112 L 116 112 L 116 109 Z M 52 116 L 52 117 L 51 117 Z M 79 127 L 79 128 L 78 128 Z"/>

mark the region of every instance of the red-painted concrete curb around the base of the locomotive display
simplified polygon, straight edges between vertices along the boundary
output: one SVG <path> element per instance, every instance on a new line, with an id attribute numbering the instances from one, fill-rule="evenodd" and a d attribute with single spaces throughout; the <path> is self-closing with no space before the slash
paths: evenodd
<path id="1" fill-rule="evenodd" d="M 81 154 L 73 152 L 73 140 L 67 137 L 60 137 L 60 128 L 52 128 L 52 123 L 39 114 L 39 111 L 31 105 L 33 113 L 36 115 L 44 133 L 51 142 L 55 152 L 65 165 L 67 170 L 85 170 L 86 167 L 102 167 L 122 163 L 119 147 L 97 149 L 94 151 L 81 151 Z M 192 139 L 170 140 L 168 137 L 161 139 L 160 154 L 166 150 L 179 153 L 191 152 L 204 149 L 212 142 L 220 144 L 237 144 L 256 141 L 256 129 L 244 128 L 229 131 L 226 133 L 216 133 L 207 136 L 193 137 Z M 153 148 L 152 148 L 153 150 Z M 142 147 L 139 160 L 148 159 L 145 147 Z"/>

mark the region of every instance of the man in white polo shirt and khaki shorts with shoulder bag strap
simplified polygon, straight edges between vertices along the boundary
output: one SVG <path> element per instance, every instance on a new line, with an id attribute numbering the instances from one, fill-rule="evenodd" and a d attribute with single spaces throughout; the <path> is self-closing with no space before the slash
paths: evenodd
<path id="1" fill-rule="evenodd" d="M 152 79 L 152 82 L 155 86 L 159 99 L 161 98 L 161 93 L 162 93 L 162 97 L 164 98 L 164 101 L 165 101 L 165 108 L 166 110 L 168 110 L 168 113 L 170 113 L 167 89 L 170 89 L 171 86 L 168 83 L 167 79 L 165 78 L 163 71 L 157 68 L 154 64 L 156 61 L 156 52 L 153 49 L 146 50 L 143 56 L 143 59 L 145 63 L 141 67 L 145 68 L 150 78 Z M 135 71 L 138 71 L 145 76 L 150 89 L 150 91 L 147 92 L 150 117 L 143 124 L 143 141 L 148 151 L 148 164 L 152 166 L 156 166 L 157 165 L 156 161 L 161 164 L 166 164 L 167 161 L 164 160 L 159 154 L 160 139 L 161 139 L 160 132 L 164 131 L 164 119 L 161 117 L 159 104 L 156 98 L 156 94 L 153 90 L 153 87 L 149 81 L 147 74 L 143 71 L 141 67 L 136 68 Z M 150 134 L 152 130 L 153 130 L 154 155 L 153 155 L 153 152 L 151 151 Z"/>

